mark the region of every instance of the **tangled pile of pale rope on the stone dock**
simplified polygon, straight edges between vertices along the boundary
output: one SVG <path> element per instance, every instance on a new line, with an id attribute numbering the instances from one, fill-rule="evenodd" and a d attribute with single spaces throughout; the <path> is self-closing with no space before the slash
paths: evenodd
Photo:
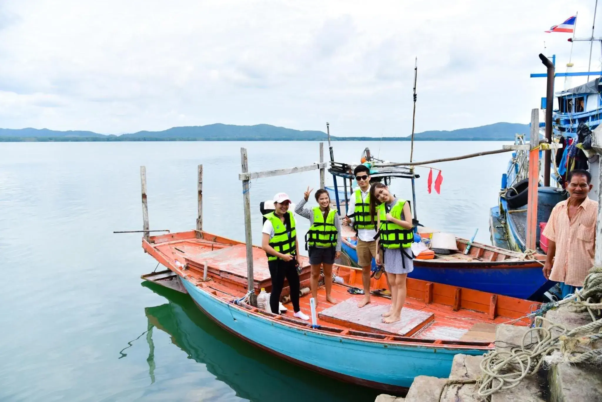
<path id="1" fill-rule="evenodd" d="M 602 348 L 597 345 L 597 341 L 602 339 L 602 267 L 589 270 L 583 289 L 547 304 L 550 306 L 542 306 L 538 313 L 567 304 L 576 312 L 587 311 L 592 322 L 569 330 L 564 325 L 535 316 L 534 327 L 526 331 L 520 346 L 510 351 L 485 354 L 480 363 L 482 374 L 477 380 L 477 397 L 484 399 L 495 392 L 514 388 L 523 378 L 536 374 L 544 364 L 602 361 Z M 544 322 L 548 324 L 545 328 Z M 534 338 L 536 342 L 531 341 Z"/>

